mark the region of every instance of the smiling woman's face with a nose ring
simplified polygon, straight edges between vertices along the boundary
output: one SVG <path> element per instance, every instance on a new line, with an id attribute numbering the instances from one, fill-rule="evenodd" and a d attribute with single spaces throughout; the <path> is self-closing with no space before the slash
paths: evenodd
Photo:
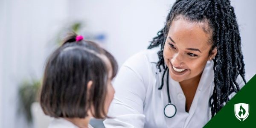
<path id="1" fill-rule="evenodd" d="M 216 55 L 209 55 L 212 32 L 204 32 L 203 26 L 206 25 L 183 18 L 172 21 L 163 49 L 163 58 L 175 81 L 192 80 L 201 76 L 207 61 Z M 217 52 L 216 49 L 213 51 Z"/>

